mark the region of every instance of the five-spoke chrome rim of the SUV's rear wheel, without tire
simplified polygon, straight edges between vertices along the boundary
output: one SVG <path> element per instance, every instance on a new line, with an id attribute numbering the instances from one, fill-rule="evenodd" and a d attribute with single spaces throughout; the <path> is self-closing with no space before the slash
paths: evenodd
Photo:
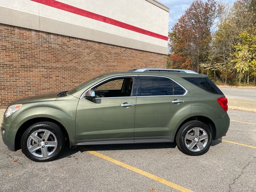
<path id="1" fill-rule="evenodd" d="M 198 152 L 205 148 L 208 143 L 208 134 L 203 128 L 195 127 L 190 129 L 184 139 L 188 150 Z"/>

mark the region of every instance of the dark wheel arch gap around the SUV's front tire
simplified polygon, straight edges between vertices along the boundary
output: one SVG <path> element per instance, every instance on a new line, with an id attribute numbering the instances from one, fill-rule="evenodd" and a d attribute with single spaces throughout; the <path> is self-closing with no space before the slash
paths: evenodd
<path id="1" fill-rule="evenodd" d="M 52 122 L 52 123 L 57 124 L 63 130 L 66 142 L 69 143 L 68 132 L 67 132 L 66 128 L 60 122 L 58 122 L 57 120 L 54 120 L 52 118 L 38 117 L 38 118 L 29 119 L 20 126 L 20 128 L 16 132 L 16 136 L 15 136 L 15 142 L 14 142 L 15 151 L 19 150 L 21 148 L 21 146 L 20 146 L 21 138 L 22 138 L 22 135 L 24 134 L 24 132 L 26 131 L 26 129 L 28 129 L 31 125 L 33 125 L 35 123 L 43 122 L 43 121 Z"/>

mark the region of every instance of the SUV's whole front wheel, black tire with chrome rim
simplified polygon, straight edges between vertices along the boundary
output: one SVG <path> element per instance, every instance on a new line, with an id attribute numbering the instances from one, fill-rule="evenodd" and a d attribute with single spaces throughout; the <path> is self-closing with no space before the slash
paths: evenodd
<path id="1" fill-rule="evenodd" d="M 49 136 L 47 137 L 48 133 Z M 47 137 L 46 140 L 43 139 L 43 135 L 44 138 Z M 33 136 L 34 139 L 32 139 Z M 40 142 L 37 140 L 39 140 Z M 29 159 L 36 162 L 47 162 L 54 160 L 54 158 L 56 158 L 58 154 L 60 154 L 60 152 L 64 149 L 64 146 L 64 134 L 62 133 L 61 128 L 57 124 L 52 122 L 38 122 L 36 124 L 33 124 L 24 132 L 21 138 L 22 153 L 24 153 Z M 35 149 L 34 152 L 32 151 L 32 147 L 34 147 Z M 43 153 L 43 151 L 45 153 Z"/>

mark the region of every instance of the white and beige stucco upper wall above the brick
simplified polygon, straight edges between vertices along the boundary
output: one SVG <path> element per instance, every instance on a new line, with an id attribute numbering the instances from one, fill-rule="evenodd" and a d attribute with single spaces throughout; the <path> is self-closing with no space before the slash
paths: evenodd
<path id="1" fill-rule="evenodd" d="M 110 23 L 88 18 L 43 4 L 38 0 L 0 0 L 0 23 L 42 30 L 167 54 L 168 8 L 156 6 L 154 0 L 58 0 L 54 4 L 80 8 L 125 24 L 147 30 L 146 35 Z M 60 6 L 63 4 L 60 4 Z M 163 37 L 165 37 L 163 39 Z"/>

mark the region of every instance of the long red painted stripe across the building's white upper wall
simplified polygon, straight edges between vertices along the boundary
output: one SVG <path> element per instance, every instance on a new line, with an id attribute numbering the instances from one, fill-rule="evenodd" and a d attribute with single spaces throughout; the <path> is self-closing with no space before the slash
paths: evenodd
<path id="1" fill-rule="evenodd" d="M 124 22 L 120 22 L 118 20 L 114 20 L 112 18 L 108 18 L 108 17 L 102 16 L 102 15 L 99 15 L 99 14 L 96 14 L 96 13 L 93 13 L 90 11 L 86 11 L 86 10 L 83 10 L 83 9 L 62 3 L 62 2 L 58 2 L 56 0 L 31 0 L 31 1 L 38 2 L 41 4 L 47 5 L 47 6 L 51 6 L 51 7 L 57 8 L 57 9 L 61 9 L 61 10 L 64 10 L 64 11 L 67 11 L 70 13 L 78 14 L 78 15 L 81 15 L 84 17 L 88 17 L 88 18 L 91 18 L 94 20 L 101 21 L 101 22 L 105 22 L 108 24 L 112 24 L 114 26 L 118 26 L 118 27 L 128 29 L 131 31 L 135 31 L 135 32 L 138 32 L 138 33 L 141 33 L 144 35 L 152 36 L 152 37 L 159 38 L 159 39 L 166 40 L 166 41 L 168 40 L 168 37 L 166 37 L 166 36 L 163 36 L 163 35 L 160 35 L 160 34 L 157 34 L 157 33 L 142 29 L 142 28 L 138 28 L 136 26 L 132 26 L 132 25 L 126 24 Z"/>

